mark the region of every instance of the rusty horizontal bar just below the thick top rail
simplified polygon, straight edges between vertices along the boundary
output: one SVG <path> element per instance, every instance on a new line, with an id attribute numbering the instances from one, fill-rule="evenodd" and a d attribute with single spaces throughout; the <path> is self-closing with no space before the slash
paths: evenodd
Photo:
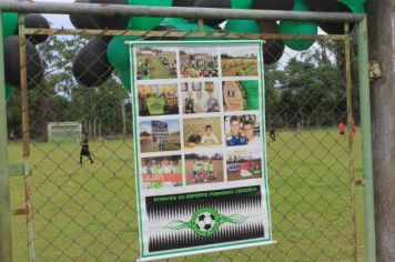
<path id="1" fill-rule="evenodd" d="M 169 37 L 169 38 L 229 38 L 240 39 L 315 39 L 344 40 L 344 34 L 273 34 L 273 33 L 235 33 L 235 32 L 191 32 L 191 31 L 136 31 L 136 30 L 99 30 L 99 29 L 39 29 L 27 28 L 27 34 L 62 34 L 62 36 L 134 36 L 134 37 Z"/>

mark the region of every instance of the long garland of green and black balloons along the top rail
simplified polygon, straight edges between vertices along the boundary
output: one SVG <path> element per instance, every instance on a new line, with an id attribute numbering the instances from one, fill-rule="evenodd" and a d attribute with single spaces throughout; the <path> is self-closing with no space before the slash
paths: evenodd
<path id="1" fill-rule="evenodd" d="M 111 3 L 130 6 L 155 7 L 196 7 L 221 9 L 261 9 L 261 10 L 297 10 L 328 12 L 364 12 L 365 0 L 75 0 L 75 2 Z M 131 30 L 180 30 L 198 31 L 196 21 L 181 18 L 103 18 L 98 16 L 71 14 L 70 20 L 78 29 L 131 29 Z M 343 23 L 316 23 L 301 21 L 253 21 L 227 20 L 225 28 L 219 26 L 224 20 L 204 20 L 205 32 L 230 31 L 236 33 L 284 33 L 284 34 L 316 34 L 317 27 L 327 33 L 343 33 Z M 117 70 L 126 90 L 130 91 L 129 50 L 124 41 L 138 40 L 138 37 L 97 37 L 77 54 L 73 61 L 73 74 L 83 85 L 98 87 L 105 82 L 113 70 Z M 186 37 L 184 40 L 195 40 Z M 146 39 L 145 39 L 146 40 Z M 151 38 L 149 40 L 156 40 Z M 169 40 L 169 38 L 168 38 Z M 285 46 L 293 50 L 305 50 L 314 40 L 274 39 L 266 40 L 263 46 L 265 64 L 281 59 Z"/>

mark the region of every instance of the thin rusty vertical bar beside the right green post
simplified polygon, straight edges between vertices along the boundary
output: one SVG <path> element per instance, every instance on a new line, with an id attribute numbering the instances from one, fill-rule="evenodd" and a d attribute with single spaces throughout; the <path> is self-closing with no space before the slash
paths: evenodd
<path id="1" fill-rule="evenodd" d="M 344 57 L 345 57 L 345 80 L 347 98 L 347 127 L 348 127 L 348 172 L 350 172 L 350 205 L 351 205 L 351 226 L 352 226 L 352 261 L 358 260 L 357 239 L 356 239 L 356 208 L 355 208 L 355 160 L 354 160 L 354 119 L 353 119 L 353 95 L 352 95 L 352 75 L 351 75 L 351 44 L 350 26 L 344 24 Z"/>

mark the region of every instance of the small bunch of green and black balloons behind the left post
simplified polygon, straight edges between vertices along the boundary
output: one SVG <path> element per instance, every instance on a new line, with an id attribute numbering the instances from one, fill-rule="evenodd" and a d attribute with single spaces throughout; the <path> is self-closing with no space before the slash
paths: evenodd
<path id="1" fill-rule="evenodd" d="M 6 99 L 8 100 L 13 91 L 13 87 L 20 87 L 20 53 L 18 36 L 18 13 L 2 13 L 2 38 L 4 47 L 4 71 L 6 71 Z M 44 17 L 38 13 L 30 13 L 24 17 L 26 28 L 50 28 Z M 45 41 L 48 36 L 31 34 L 27 36 L 27 71 L 28 88 L 36 87 L 44 74 L 44 63 L 36 44 Z"/>

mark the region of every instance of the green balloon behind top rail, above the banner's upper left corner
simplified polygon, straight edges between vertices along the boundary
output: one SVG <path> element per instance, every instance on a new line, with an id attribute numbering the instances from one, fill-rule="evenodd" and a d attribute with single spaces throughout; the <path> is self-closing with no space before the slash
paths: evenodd
<path id="1" fill-rule="evenodd" d="M 131 6 L 171 7 L 172 0 L 128 0 Z M 150 30 L 159 26 L 163 18 L 135 17 L 130 18 L 128 28 L 133 30 Z"/>

